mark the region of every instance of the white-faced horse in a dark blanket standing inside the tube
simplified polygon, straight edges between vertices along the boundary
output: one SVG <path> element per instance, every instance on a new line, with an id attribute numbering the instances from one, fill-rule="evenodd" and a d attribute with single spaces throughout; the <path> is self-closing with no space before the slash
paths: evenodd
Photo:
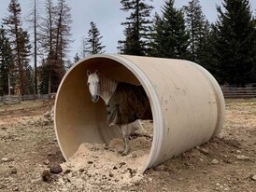
<path id="1" fill-rule="evenodd" d="M 137 129 L 143 130 L 139 119 L 152 119 L 148 96 L 141 85 L 119 82 L 100 74 L 98 70 L 94 73 L 88 70 L 87 75 L 92 102 L 102 98 L 107 106 L 108 125 L 121 128 L 124 143 L 121 155 L 126 156 L 131 148 L 130 134 Z"/>

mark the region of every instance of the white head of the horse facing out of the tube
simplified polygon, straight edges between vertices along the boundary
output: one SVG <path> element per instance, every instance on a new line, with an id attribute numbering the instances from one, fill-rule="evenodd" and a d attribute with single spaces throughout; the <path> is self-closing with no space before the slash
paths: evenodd
<path id="1" fill-rule="evenodd" d="M 91 93 L 91 99 L 92 102 L 98 102 L 99 100 L 99 91 L 100 91 L 100 78 L 99 78 L 99 72 L 96 70 L 94 73 L 91 73 L 89 70 L 87 70 L 87 85 L 89 88 L 89 91 Z"/>

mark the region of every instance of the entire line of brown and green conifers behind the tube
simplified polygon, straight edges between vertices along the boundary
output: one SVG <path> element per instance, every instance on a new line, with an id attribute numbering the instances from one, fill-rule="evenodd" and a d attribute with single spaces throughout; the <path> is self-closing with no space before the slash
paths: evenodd
<path id="1" fill-rule="evenodd" d="M 206 20 L 199 0 L 181 8 L 175 7 L 174 0 L 165 0 L 160 13 L 152 13 L 151 2 L 121 0 L 121 10 L 128 17 L 121 22 L 124 39 L 118 42 L 120 54 L 196 62 L 220 84 L 244 87 L 256 82 L 256 20 L 249 0 L 222 0 L 213 23 Z M 72 63 L 105 52 L 103 36 L 92 21 L 80 53 L 68 61 L 70 7 L 65 0 L 45 0 L 43 6 L 39 0 L 32 3 L 26 22 L 33 33 L 22 27 L 18 0 L 10 0 L 9 15 L 2 19 L 0 95 L 7 94 L 9 76 L 12 91 L 17 89 L 21 95 L 55 92 Z"/>

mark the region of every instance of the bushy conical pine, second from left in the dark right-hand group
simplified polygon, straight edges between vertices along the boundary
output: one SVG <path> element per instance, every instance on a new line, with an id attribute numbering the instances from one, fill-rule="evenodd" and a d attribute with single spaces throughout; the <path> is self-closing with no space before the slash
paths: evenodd
<path id="1" fill-rule="evenodd" d="M 150 55 L 163 58 L 187 58 L 189 34 L 181 10 L 174 0 L 164 2 L 163 16 L 155 16 Z"/>

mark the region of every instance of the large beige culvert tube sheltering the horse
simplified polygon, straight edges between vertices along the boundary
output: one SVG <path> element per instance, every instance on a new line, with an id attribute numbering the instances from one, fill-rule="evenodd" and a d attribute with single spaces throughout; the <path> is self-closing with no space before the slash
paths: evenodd
<path id="1" fill-rule="evenodd" d="M 225 103 L 220 86 L 201 66 L 184 60 L 93 55 L 72 66 L 57 92 L 54 126 L 66 160 L 82 143 L 107 143 L 118 135 L 117 129 L 108 129 L 105 103 L 91 101 L 88 69 L 140 83 L 146 90 L 154 130 L 143 171 L 206 143 L 222 128 Z"/>

